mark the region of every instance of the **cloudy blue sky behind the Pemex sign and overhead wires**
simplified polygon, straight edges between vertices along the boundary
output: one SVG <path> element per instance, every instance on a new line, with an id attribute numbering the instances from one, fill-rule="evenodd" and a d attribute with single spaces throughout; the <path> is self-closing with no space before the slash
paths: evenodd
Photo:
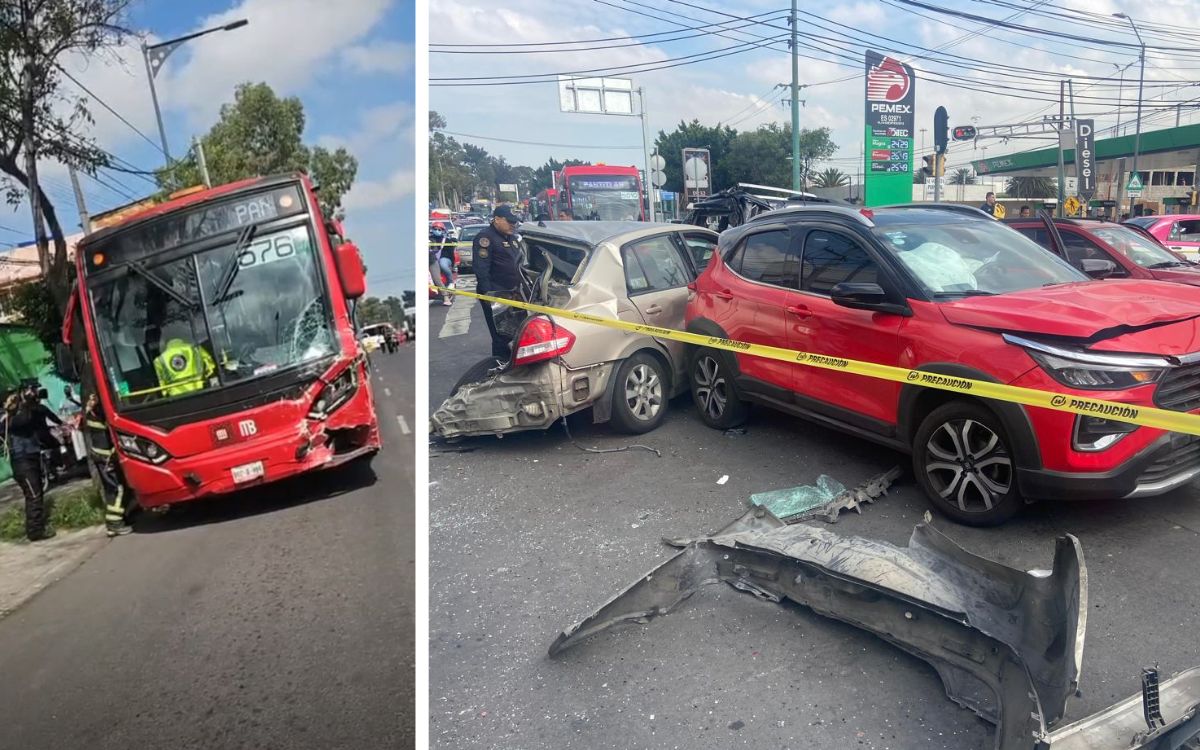
<path id="1" fill-rule="evenodd" d="M 918 128 L 931 127 L 932 113 L 938 106 L 949 109 L 952 125 L 1039 121 L 1043 114 L 1057 112 L 1058 79 L 1069 76 L 1078 78 L 1078 114 L 1094 115 L 1098 127 L 1104 128 L 1115 125 L 1117 102 L 1121 102 L 1122 122 L 1133 121 L 1138 76 L 1136 49 L 1108 43 L 1134 41 L 1124 22 L 1110 14 L 1127 11 L 1144 24 L 1147 43 L 1168 47 L 1182 43 L 1170 37 L 1171 29 L 1190 31 L 1200 25 L 1200 4 L 1194 0 L 1156 4 L 930 0 L 929 4 L 1009 19 L 1033 31 L 998 29 L 906 5 L 901 0 L 800 2 L 799 82 L 805 86 L 798 97 L 804 102 L 800 126 L 829 127 L 839 146 L 823 166 L 848 173 L 860 168 L 863 50 L 868 47 L 896 54 L 919 70 L 965 79 L 959 84 L 936 83 L 934 76 L 918 72 Z M 522 54 L 487 55 L 445 54 L 434 48 L 430 56 L 430 107 L 445 116 L 448 131 L 468 134 L 460 137 L 461 140 L 504 155 L 510 163 L 536 167 L 548 157 L 574 157 L 641 166 L 641 131 L 636 119 L 563 114 L 558 112 L 553 83 L 440 86 L 433 79 L 462 78 L 457 83 L 478 83 L 484 76 L 672 65 L 629 74 L 635 85 L 647 90 L 652 139 L 659 130 L 671 131 L 680 120 L 692 118 L 706 125 L 721 122 L 752 130 L 766 122 L 790 119 L 790 109 L 779 103 L 785 91 L 774 88 L 791 80 L 785 41 L 788 5 L 786 0 L 527 0 L 520 6 L 496 10 L 487 0 L 439 0 L 430 5 L 431 44 L 505 42 L 532 46 L 565 40 L 606 41 L 576 46 L 587 48 L 577 52 L 566 52 L 570 46 L 559 46 L 553 53 L 546 47 L 523 47 Z M 1094 23 L 1081 20 L 1085 12 L 1093 14 L 1088 19 Z M 1158 24 L 1158 30 L 1148 31 L 1151 24 Z M 1073 32 L 1085 40 L 1056 40 L 1037 34 L 1044 29 Z M 626 36 L 638 38 L 618 38 Z M 841 38 L 832 41 L 838 36 Z M 738 46 L 742 48 L 736 54 L 726 54 Z M 914 46 L 938 50 L 937 56 L 942 60 L 922 59 L 928 53 Z M 1200 96 L 1192 48 L 1190 43 L 1181 47 L 1190 60 L 1151 50 L 1146 67 L 1148 101 Z M 533 50 L 534 54 L 527 54 Z M 948 55 L 959 58 L 947 59 Z M 703 56 L 712 59 L 696 62 Z M 1038 73 L 1031 76 L 1001 66 L 1032 68 Z M 972 70 L 978 67 L 988 70 Z M 1123 88 L 1117 78 L 1121 68 L 1124 70 Z M 1111 78 L 1096 83 L 1085 76 Z M 1098 98 L 1088 100 L 1091 96 Z M 1033 98 L 1040 101 L 1031 101 Z M 1156 110 L 1153 118 L 1146 118 L 1145 127 L 1174 125 L 1174 108 Z M 1184 124 L 1200 121 L 1195 108 L 1184 109 L 1182 119 Z M 970 143 L 956 144 L 950 150 L 949 168 L 979 158 L 983 145 L 992 157 L 1045 144 L 992 140 L 980 142 L 978 150 Z M 931 143 L 926 143 L 926 148 L 931 148 Z"/>

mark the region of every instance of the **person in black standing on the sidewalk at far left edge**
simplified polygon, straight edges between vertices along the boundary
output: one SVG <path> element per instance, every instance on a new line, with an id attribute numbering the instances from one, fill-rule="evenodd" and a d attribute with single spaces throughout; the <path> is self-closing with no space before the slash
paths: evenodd
<path id="1" fill-rule="evenodd" d="M 46 421 L 61 425 L 62 420 L 38 400 L 37 388 L 11 394 L 4 402 L 0 415 L 0 434 L 4 434 L 5 452 L 12 464 L 12 476 L 25 496 L 25 538 L 41 541 L 54 536 L 46 512 L 42 476 L 42 439 L 47 432 Z"/>

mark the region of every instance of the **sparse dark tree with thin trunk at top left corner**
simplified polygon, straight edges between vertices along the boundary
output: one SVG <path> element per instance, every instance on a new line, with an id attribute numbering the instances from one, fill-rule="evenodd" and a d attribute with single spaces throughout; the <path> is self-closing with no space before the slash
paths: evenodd
<path id="1" fill-rule="evenodd" d="M 60 60 L 94 56 L 128 34 L 128 0 L 4 0 L 0 2 L 0 192 L 10 205 L 37 198 L 43 227 L 37 253 L 58 310 L 70 295 L 67 246 L 54 202 L 37 182 L 38 161 L 95 174 L 109 155 L 86 133 L 88 100 L 62 85 Z M 53 242 L 53 252 L 52 245 Z"/>

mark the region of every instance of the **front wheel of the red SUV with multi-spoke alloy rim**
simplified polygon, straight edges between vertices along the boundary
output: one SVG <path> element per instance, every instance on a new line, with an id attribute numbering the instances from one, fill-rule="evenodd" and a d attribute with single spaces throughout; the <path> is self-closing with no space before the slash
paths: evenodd
<path id="1" fill-rule="evenodd" d="M 1021 509 L 1008 434 L 985 407 L 965 401 L 937 407 L 912 448 L 917 482 L 943 515 L 967 526 L 996 526 Z"/>

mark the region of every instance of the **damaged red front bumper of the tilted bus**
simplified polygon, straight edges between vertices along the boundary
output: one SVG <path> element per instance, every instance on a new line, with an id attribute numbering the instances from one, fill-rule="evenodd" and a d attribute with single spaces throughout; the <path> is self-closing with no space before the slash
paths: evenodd
<path id="1" fill-rule="evenodd" d="M 143 508 L 227 494 L 247 487 L 326 469 L 377 452 L 379 427 L 371 389 L 358 392 L 329 419 L 304 419 L 294 432 L 275 433 L 152 466 L 121 457 L 125 482 Z M 263 463 L 263 474 L 236 482 L 234 467 Z"/>

